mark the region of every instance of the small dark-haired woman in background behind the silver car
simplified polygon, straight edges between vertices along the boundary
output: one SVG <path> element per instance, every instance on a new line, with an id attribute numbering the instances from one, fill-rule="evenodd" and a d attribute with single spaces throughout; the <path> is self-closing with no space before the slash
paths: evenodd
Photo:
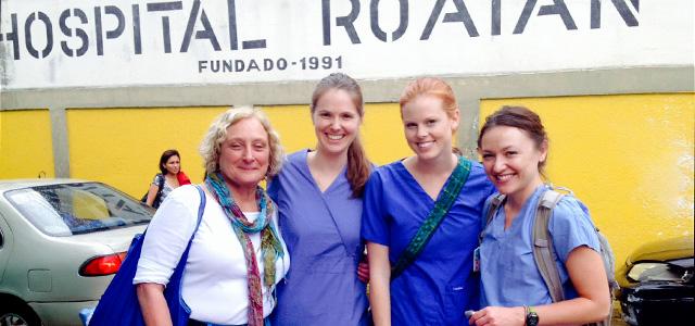
<path id="1" fill-rule="evenodd" d="M 160 206 L 172 190 L 191 183 L 181 171 L 181 155 L 175 149 L 165 150 L 162 153 L 159 167 L 161 173 L 154 176 L 146 200 L 149 206 L 155 209 Z"/>

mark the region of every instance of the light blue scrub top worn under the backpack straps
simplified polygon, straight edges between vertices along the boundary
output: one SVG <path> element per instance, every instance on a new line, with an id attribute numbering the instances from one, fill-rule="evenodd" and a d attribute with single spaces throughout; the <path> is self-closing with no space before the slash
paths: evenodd
<path id="1" fill-rule="evenodd" d="M 547 186 L 539 186 L 523 203 L 521 211 L 504 229 L 505 212 L 497 210 L 485 228 L 480 246 L 481 306 L 542 305 L 552 303 L 551 293 L 533 260 L 533 221 L 538 202 Z M 484 212 L 490 210 L 492 196 Z M 484 221 L 483 221 L 484 224 Z M 553 209 L 548 223 L 556 264 L 565 289 L 565 298 L 577 298 L 577 290 L 567 274 L 565 262 L 577 247 L 587 246 L 601 252 L 601 244 L 589 210 L 572 196 L 565 196 Z"/>

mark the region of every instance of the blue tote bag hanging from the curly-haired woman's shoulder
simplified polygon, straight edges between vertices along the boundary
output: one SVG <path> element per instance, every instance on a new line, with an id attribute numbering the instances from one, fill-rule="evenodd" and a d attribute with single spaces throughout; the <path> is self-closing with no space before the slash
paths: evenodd
<path id="1" fill-rule="evenodd" d="M 188 308 L 186 302 L 184 302 L 184 298 L 181 298 L 181 280 L 184 267 L 186 267 L 186 261 L 188 260 L 188 251 L 191 249 L 191 242 L 198 231 L 198 227 L 203 217 L 203 211 L 205 210 L 205 193 L 200 186 L 195 186 L 195 188 L 201 198 L 200 206 L 198 208 L 198 223 L 195 224 L 195 229 L 191 238 L 188 240 L 188 246 L 184 254 L 181 254 L 178 265 L 176 265 L 169 278 L 168 285 L 164 288 L 164 298 L 169 308 L 174 325 L 186 325 L 191 314 L 190 308 Z M 111 280 L 111 284 L 101 297 L 101 300 L 99 300 L 99 304 L 97 304 L 89 319 L 90 326 L 144 325 L 138 302 L 138 294 L 136 293 L 136 285 L 132 284 L 132 278 L 138 268 L 138 261 L 140 260 L 140 252 L 142 251 L 142 242 L 144 241 L 146 234 L 147 231 L 132 239 L 126 260 L 121 265 L 116 276 Z"/>

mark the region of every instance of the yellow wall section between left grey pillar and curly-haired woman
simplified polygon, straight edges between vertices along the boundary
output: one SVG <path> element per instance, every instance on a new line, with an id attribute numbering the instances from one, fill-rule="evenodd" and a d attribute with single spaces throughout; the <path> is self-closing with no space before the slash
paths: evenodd
<path id="1" fill-rule="evenodd" d="M 227 108 L 66 110 L 71 177 L 104 181 L 140 198 L 167 149 L 181 154 L 193 183 L 203 175 L 200 141 Z"/>

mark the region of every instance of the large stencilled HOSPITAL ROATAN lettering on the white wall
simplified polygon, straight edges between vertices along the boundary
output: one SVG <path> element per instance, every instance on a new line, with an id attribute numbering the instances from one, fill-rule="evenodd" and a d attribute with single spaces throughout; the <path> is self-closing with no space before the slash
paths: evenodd
<path id="1" fill-rule="evenodd" d="M 383 42 L 397 41 L 406 33 L 418 33 L 419 39 L 428 40 L 435 34 L 434 29 L 438 24 L 460 24 L 462 37 L 479 37 L 478 24 L 482 24 L 482 18 L 477 18 L 476 13 L 471 13 L 466 5 L 465 0 L 432 0 L 431 11 L 427 16 L 425 13 L 420 16 L 416 16 L 417 20 L 427 18 L 427 23 L 422 30 L 414 30 L 409 28 L 412 14 L 410 2 L 415 0 L 397 0 L 392 1 L 392 4 L 397 2 L 397 8 L 389 8 L 389 10 L 399 11 L 399 26 L 394 30 L 383 30 L 379 20 L 379 3 L 380 0 L 321 0 L 311 2 L 320 5 L 323 27 L 323 46 L 330 46 L 333 39 L 337 37 L 346 37 L 351 43 L 361 43 L 365 37 L 374 37 Z M 471 0 L 468 0 L 470 2 Z M 479 1 L 479 0 L 478 0 Z M 444 7 L 447 2 L 453 3 L 455 11 L 445 12 Z M 490 24 L 491 36 L 498 36 L 503 34 L 502 25 L 502 10 L 504 9 L 504 0 L 489 0 L 491 20 L 485 18 L 485 23 Z M 546 1 L 547 2 L 547 1 Z M 589 28 L 595 29 L 602 26 L 602 10 L 603 2 L 605 0 L 591 0 L 589 2 L 590 22 Z M 609 3 L 612 10 L 616 10 L 624 24 L 629 27 L 639 26 L 639 21 L 635 13 L 639 12 L 639 0 L 611 0 Z M 81 3 L 81 2 L 80 2 Z M 207 2 L 210 3 L 210 2 Z M 331 11 L 331 8 L 336 8 L 336 4 L 349 5 L 350 12 L 346 15 L 337 15 Z M 58 17 L 51 17 L 43 11 L 37 11 L 29 13 L 24 20 L 20 20 L 16 13 L 11 13 L 10 17 L 10 30 L 0 30 L 0 41 L 12 43 L 14 60 L 21 60 L 20 47 L 24 46 L 24 49 L 29 53 L 31 58 L 42 59 L 48 58 L 53 53 L 55 55 L 54 45 L 60 37 L 60 50 L 63 54 L 72 58 L 83 57 L 87 54 L 90 47 L 93 51 L 96 48 L 97 55 L 104 55 L 104 42 L 110 40 L 121 39 L 132 43 L 132 53 L 142 54 L 147 51 L 152 51 L 152 47 L 143 47 L 142 43 L 142 28 L 146 27 L 141 22 L 143 20 L 160 20 L 161 24 L 157 33 L 162 35 L 162 47 L 164 53 L 172 53 L 175 51 L 173 46 L 176 47 L 176 51 L 180 53 L 188 52 L 193 39 L 201 40 L 195 46 L 202 47 L 202 43 L 206 43 L 214 51 L 223 51 L 223 45 L 220 45 L 222 38 L 225 40 L 225 51 L 237 50 L 252 50 L 264 49 L 269 46 L 269 42 L 264 38 L 245 39 L 240 37 L 243 35 L 243 26 L 239 26 L 237 22 L 237 13 L 240 12 L 239 5 L 253 5 L 253 0 L 226 0 L 226 17 L 227 28 L 226 30 L 215 30 L 213 26 L 219 26 L 218 24 L 211 24 L 211 21 L 205 12 L 205 8 L 200 0 L 190 2 L 190 8 L 184 7 L 184 1 L 168 1 L 168 2 L 138 2 L 132 3 L 129 7 L 124 4 L 117 5 L 103 5 L 86 8 L 71 8 L 61 12 Z M 188 2 L 186 4 L 189 4 Z M 208 4 L 210 5 L 210 4 Z M 368 5 L 368 8 L 363 8 Z M 450 5 L 451 7 L 451 5 Z M 538 13 L 533 15 L 534 12 Z M 208 10 L 213 10 L 208 8 Z M 217 10 L 217 8 L 215 8 Z M 188 11 L 187 21 L 172 21 L 170 13 L 176 11 Z M 90 13 L 90 15 L 87 14 Z M 126 13 L 128 16 L 126 16 Z M 564 0 L 553 0 L 553 4 L 538 4 L 538 0 L 527 0 L 523 10 L 519 13 L 518 20 L 514 22 L 514 29 L 509 29 L 511 35 L 523 34 L 526 26 L 531 18 L 539 16 L 552 16 L 556 15 L 558 18 L 558 28 L 565 28 L 567 30 L 578 29 L 578 24 L 574 21 L 570 10 L 565 4 Z M 480 14 L 480 16 L 483 16 Z M 484 15 L 486 16 L 486 13 Z M 366 17 L 369 20 L 370 30 L 357 30 L 355 28 L 355 22 L 359 18 Z M 114 20 L 117 22 L 115 28 L 104 30 L 104 20 Z M 21 24 L 23 23 L 23 24 Z M 56 26 L 54 26 L 56 24 Z M 318 22 L 317 22 L 318 24 Z M 38 27 L 37 27 L 38 26 Z M 128 36 L 124 35 L 126 26 L 130 29 Z M 147 25 L 151 26 L 151 25 Z M 172 39 L 172 28 L 185 26 L 184 37 L 180 40 Z M 43 27 L 43 28 L 40 28 Z M 60 36 L 54 37 L 60 30 Z M 409 29 L 408 29 L 409 28 Z M 41 30 L 43 42 L 37 45 L 38 41 L 35 38 L 35 33 Z M 507 29 L 504 29 L 507 30 Z M 257 30 L 256 30 L 257 32 Z M 93 39 L 90 39 L 90 34 Z M 390 37 L 389 37 L 390 36 Z M 144 48 L 144 49 L 143 49 Z"/>

